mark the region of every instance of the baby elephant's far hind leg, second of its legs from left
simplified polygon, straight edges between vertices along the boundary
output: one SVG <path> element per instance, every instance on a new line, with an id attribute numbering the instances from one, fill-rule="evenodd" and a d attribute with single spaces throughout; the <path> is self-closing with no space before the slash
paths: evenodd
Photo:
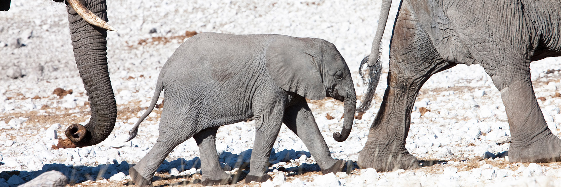
<path id="1" fill-rule="evenodd" d="M 211 127 L 195 134 L 193 138 L 199 145 L 201 153 L 201 170 L 203 171 L 203 185 L 226 185 L 232 182 L 232 177 L 220 167 L 215 138 L 218 127 Z"/>

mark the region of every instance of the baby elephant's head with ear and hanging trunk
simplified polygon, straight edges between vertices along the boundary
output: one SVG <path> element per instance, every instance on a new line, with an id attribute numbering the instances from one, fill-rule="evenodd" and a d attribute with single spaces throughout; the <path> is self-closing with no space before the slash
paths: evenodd
<path id="1" fill-rule="evenodd" d="M 335 45 L 318 38 L 279 35 L 266 49 L 266 66 L 280 88 L 305 98 L 332 97 L 344 102 L 344 124 L 333 138 L 343 142 L 351 133 L 356 93 L 351 71 Z"/>

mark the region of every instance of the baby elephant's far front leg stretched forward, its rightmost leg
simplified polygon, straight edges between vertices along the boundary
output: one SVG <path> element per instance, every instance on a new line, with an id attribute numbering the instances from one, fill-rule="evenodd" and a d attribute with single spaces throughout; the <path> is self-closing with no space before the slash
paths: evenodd
<path id="1" fill-rule="evenodd" d="M 321 135 L 306 99 L 296 96 L 293 102 L 295 104 L 289 106 L 284 112 L 284 124 L 304 142 L 306 148 L 318 162 L 323 174 L 341 172 L 344 161 L 331 157 L 329 147 Z"/>

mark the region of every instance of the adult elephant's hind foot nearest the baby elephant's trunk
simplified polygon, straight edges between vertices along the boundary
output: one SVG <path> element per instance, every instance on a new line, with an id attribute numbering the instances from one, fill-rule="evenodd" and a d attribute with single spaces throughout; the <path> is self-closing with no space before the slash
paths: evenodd
<path id="1" fill-rule="evenodd" d="M 399 153 L 369 153 L 370 149 L 362 149 L 358 157 L 358 167 L 375 168 L 376 171 L 410 170 L 419 168 L 419 161 L 415 156 L 409 154 L 407 149 Z M 376 150 L 376 149 L 375 149 Z M 387 150 L 387 149 L 385 149 Z"/>

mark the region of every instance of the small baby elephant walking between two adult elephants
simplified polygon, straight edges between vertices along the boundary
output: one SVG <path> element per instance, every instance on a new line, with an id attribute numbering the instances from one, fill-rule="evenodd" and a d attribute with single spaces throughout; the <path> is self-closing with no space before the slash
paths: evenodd
<path id="1" fill-rule="evenodd" d="M 218 127 L 255 118 L 255 142 L 246 183 L 264 182 L 273 143 L 281 124 L 304 142 L 324 174 L 339 172 L 321 136 L 306 98 L 326 96 L 344 102 L 338 142 L 351 132 L 356 94 L 351 72 L 335 45 L 317 38 L 285 35 L 202 33 L 188 39 L 162 67 L 148 111 L 165 88 L 159 137 L 148 154 L 129 170 L 139 186 L 148 186 L 154 171 L 178 144 L 193 137 L 201 153 L 203 185 L 231 183 L 220 167 L 215 146 Z M 129 140 L 130 140 L 129 139 Z"/>

